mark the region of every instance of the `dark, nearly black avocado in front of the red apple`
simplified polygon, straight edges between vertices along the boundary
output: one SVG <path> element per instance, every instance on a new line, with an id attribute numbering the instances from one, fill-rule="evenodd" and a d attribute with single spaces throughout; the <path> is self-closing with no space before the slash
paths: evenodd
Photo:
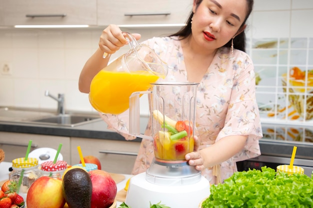
<path id="1" fill-rule="evenodd" d="M 62 194 L 69 208 L 91 208 L 90 175 L 80 168 L 67 171 L 62 180 Z"/>

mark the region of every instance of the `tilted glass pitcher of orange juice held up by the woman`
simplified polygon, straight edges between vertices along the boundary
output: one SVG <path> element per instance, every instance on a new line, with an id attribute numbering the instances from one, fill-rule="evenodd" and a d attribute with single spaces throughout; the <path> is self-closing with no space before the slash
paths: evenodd
<path id="1" fill-rule="evenodd" d="M 151 48 L 123 34 L 130 50 L 99 71 L 90 84 L 89 102 L 101 113 L 124 112 L 132 92 L 148 90 L 151 82 L 167 75 L 167 64 Z"/>

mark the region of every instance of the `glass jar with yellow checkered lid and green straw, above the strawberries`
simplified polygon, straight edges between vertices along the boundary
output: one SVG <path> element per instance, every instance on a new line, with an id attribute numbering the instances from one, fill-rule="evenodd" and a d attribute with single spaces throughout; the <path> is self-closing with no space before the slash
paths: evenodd
<path id="1" fill-rule="evenodd" d="M 9 180 L 16 181 L 19 187 L 19 195 L 26 200 L 27 192 L 31 184 L 40 177 L 38 160 L 36 158 L 16 158 L 12 160 L 12 171 L 9 173 Z"/>

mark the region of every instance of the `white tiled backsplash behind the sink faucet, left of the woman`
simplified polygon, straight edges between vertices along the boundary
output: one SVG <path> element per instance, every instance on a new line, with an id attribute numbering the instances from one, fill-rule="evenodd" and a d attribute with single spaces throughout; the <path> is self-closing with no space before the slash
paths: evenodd
<path id="1" fill-rule="evenodd" d="M 78 77 L 85 61 L 98 47 L 102 29 L 0 29 L 0 66 L 9 63 L 11 75 L 1 74 L 0 106 L 55 108 L 56 101 L 44 96 L 45 90 L 57 97 L 64 93 L 65 109 L 94 111 L 88 94 L 78 91 Z M 168 35 L 176 29 L 129 29 L 142 34 Z M 111 59 L 129 50 L 125 45 Z M 2 68 L 1 68 L 2 69 Z M 142 99 L 142 113 L 148 113 Z"/>

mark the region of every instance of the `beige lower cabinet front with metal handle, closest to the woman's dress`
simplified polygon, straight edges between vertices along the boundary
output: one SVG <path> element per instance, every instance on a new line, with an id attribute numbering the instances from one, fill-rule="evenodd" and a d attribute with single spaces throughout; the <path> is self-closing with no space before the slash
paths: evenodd
<path id="1" fill-rule="evenodd" d="M 101 163 L 101 169 L 110 173 L 130 174 L 140 142 L 113 141 L 71 137 L 71 165 L 78 164 L 80 146 L 83 156 L 92 155 Z"/>

